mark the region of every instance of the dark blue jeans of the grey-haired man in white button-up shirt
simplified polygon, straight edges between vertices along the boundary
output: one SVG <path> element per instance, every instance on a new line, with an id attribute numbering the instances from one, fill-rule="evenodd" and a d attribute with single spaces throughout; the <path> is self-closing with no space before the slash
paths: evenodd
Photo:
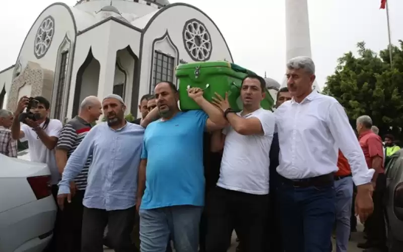
<path id="1" fill-rule="evenodd" d="M 329 251 L 335 218 L 333 185 L 294 187 L 279 182 L 277 201 L 285 251 Z"/>

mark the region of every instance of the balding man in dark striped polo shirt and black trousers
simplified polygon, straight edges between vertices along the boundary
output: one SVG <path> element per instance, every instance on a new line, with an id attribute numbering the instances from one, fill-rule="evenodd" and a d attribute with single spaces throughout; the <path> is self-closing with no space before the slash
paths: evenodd
<path id="1" fill-rule="evenodd" d="M 86 97 L 80 106 L 79 115 L 67 122 L 61 130 L 56 146 L 56 163 L 60 174 L 70 155 L 80 145 L 81 141 L 91 130 L 91 123 L 99 119 L 102 114 L 101 102 L 95 96 Z M 64 205 L 62 216 L 63 245 L 59 249 L 65 252 L 78 252 L 81 250 L 81 227 L 83 219 L 83 199 L 87 186 L 88 168 L 92 155 L 88 156 L 82 172 L 70 183 L 73 196 L 69 204 Z M 60 251 L 58 251 L 60 252 Z"/>

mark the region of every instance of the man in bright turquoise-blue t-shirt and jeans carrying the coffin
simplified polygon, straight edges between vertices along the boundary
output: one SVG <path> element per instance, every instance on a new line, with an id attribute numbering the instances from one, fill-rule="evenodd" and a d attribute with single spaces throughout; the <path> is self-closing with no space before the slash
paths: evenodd
<path id="1" fill-rule="evenodd" d="M 197 252 L 204 206 L 203 134 L 226 125 L 222 112 L 203 97 L 203 90 L 188 95 L 204 111 L 182 112 L 171 82 L 155 87 L 157 108 L 141 125 L 144 135 L 139 168 L 138 204 L 143 252 L 164 252 L 168 240 L 177 252 Z M 158 114 L 161 119 L 154 121 Z"/>

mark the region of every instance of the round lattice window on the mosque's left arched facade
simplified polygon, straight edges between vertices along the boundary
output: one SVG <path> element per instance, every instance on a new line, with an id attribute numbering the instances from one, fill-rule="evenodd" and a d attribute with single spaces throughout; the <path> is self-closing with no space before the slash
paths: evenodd
<path id="1" fill-rule="evenodd" d="M 45 18 L 38 28 L 35 36 L 34 53 L 37 58 L 43 57 L 52 43 L 54 35 L 54 19 Z"/>

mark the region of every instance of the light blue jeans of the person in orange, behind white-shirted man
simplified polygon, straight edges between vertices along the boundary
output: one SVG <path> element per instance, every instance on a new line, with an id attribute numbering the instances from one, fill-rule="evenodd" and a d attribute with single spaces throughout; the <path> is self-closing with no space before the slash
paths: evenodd
<path id="1" fill-rule="evenodd" d="M 346 252 L 349 243 L 353 186 L 353 178 L 351 176 L 334 181 L 334 188 L 336 190 L 337 252 Z"/>

